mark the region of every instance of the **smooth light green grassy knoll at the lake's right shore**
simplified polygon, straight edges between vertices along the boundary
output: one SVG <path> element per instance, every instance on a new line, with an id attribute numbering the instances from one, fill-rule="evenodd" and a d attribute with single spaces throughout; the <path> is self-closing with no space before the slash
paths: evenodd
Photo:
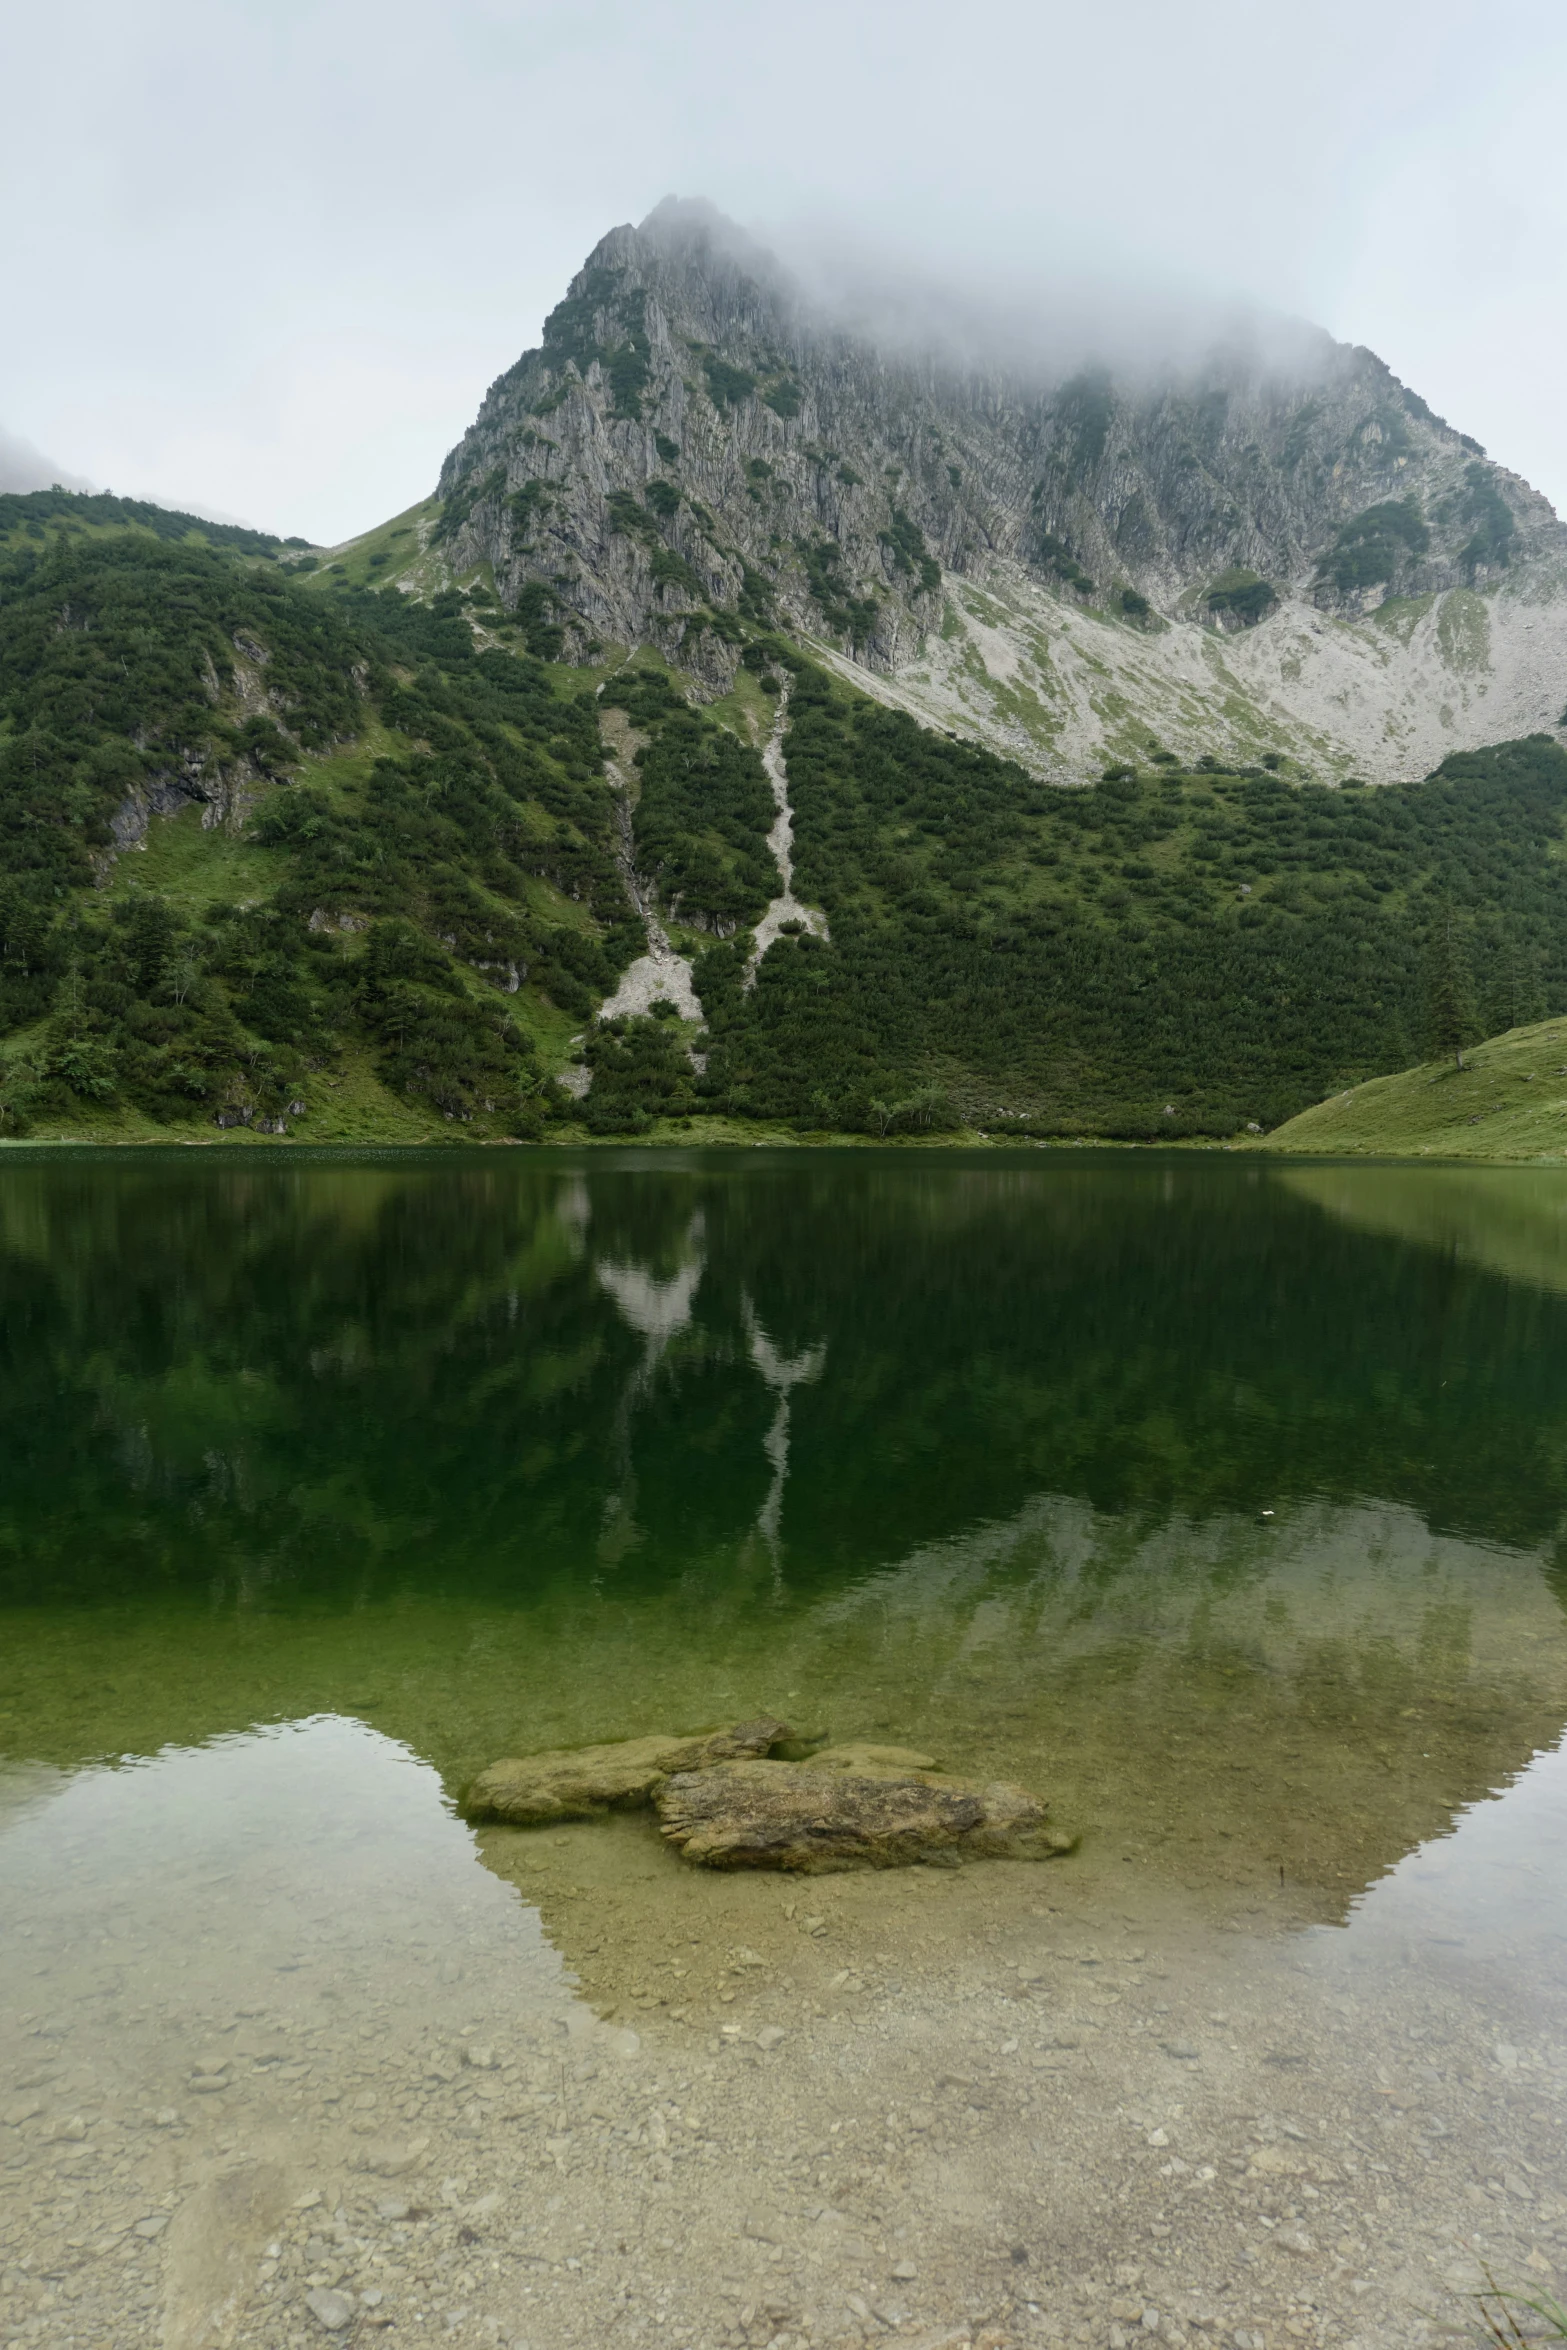
<path id="1" fill-rule="evenodd" d="M 1560 999 L 1558 999 L 1560 1001 Z M 1372 1159 L 1567 1159 L 1567 1018 L 1374 1076 L 1304 1109 L 1269 1152 Z"/>

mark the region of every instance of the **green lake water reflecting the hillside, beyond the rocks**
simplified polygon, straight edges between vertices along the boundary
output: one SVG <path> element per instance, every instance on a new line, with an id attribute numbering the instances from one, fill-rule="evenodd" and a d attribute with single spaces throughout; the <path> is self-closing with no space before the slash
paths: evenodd
<path id="1" fill-rule="evenodd" d="M 0 1297 L 16 1762 L 766 1704 L 1332 1911 L 1567 1720 L 1555 1173 L 7 1154 Z"/>

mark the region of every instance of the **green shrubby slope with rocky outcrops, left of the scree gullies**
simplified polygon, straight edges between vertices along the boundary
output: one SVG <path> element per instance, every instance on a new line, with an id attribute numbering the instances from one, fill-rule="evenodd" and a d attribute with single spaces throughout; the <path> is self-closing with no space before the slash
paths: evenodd
<path id="1" fill-rule="evenodd" d="M 141 531 L 0 597 L 12 1133 L 312 1130 L 345 1083 L 369 1130 L 540 1128 L 526 1013 L 580 1022 L 637 942 L 583 679 Z"/>

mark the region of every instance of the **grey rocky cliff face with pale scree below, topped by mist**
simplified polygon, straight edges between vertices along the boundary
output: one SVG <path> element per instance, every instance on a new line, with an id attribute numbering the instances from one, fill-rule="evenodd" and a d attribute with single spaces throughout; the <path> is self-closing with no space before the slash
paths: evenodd
<path id="1" fill-rule="evenodd" d="M 707 207 L 601 240 L 435 548 L 576 658 L 778 625 L 1041 773 L 1170 740 L 1410 773 L 1567 698 L 1567 529 L 1367 350 L 1118 381 L 909 357 Z"/>

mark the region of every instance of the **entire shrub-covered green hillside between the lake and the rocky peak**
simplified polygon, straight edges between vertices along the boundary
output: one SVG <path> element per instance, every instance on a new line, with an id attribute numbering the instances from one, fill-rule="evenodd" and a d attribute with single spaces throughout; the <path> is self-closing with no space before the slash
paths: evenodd
<path id="1" fill-rule="evenodd" d="M 103 501 L 35 536 L 28 503 L 0 501 L 9 1135 L 1229 1135 L 1410 1065 L 1442 1003 L 1485 1034 L 1567 999 L 1546 736 L 1381 790 L 1172 754 L 1052 787 L 766 623 L 698 707 L 651 653 L 538 658 L 547 618 L 482 573 L 418 599 Z M 829 938 L 787 928 L 752 980 L 785 696 Z M 700 1029 L 594 1020 L 646 945 L 627 872 Z"/>

